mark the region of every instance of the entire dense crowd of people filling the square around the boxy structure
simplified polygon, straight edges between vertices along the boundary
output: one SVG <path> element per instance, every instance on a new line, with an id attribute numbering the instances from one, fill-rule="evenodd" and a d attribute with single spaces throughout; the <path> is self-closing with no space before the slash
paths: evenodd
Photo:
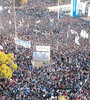
<path id="1" fill-rule="evenodd" d="M 12 3 L 1 1 L 4 8 L 12 6 Z M 19 67 L 11 79 L 0 80 L 0 100 L 55 100 L 62 95 L 67 100 L 89 100 L 90 41 L 80 38 L 80 45 L 77 45 L 70 31 L 75 30 L 80 36 L 81 30 L 85 29 L 89 34 L 88 22 L 62 13 L 58 21 L 57 13 L 48 12 L 43 3 L 35 7 L 36 3 L 34 0 L 22 9 L 16 9 L 17 34 L 20 39 L 32 41 L 29 49 L 15 48 L 13 9 L 10 8 L 10 13 L 9 8 L 1 12 L 0 45 L 5 53 L 14 55 Z M 35 45 L 50 45 L 49 66 L 32 66 Z"/>

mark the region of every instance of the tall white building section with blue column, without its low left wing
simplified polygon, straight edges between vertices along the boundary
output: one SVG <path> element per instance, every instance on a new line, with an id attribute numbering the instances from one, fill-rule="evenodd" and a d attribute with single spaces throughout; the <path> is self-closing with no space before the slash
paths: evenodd
<path id="1" fill-rule="evenodd" d="M 71 0 L 71 16 L 90 16 L 90 0 Z"/>

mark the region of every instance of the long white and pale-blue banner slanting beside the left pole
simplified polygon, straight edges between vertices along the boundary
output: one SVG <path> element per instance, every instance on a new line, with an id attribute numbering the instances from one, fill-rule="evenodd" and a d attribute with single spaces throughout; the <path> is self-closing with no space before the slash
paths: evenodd
<path id="1" fill-rule="evenodd" d="M 18 39 L 18 38 L 14 38 L 15 39 L 15 43 L 17 45 L 21 45 L 25 48 L 30 48 L 31 47 L 31 41 L 23 41 L 21 39 Z"/>

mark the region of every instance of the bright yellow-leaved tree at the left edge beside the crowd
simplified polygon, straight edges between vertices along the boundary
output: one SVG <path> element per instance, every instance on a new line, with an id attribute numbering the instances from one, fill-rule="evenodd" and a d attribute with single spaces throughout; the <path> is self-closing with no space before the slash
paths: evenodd
<path id="1" fill-rule="evenodd" d="M 17 64 L 13 60 L 14 57 L 11 53 L 0 52 L 0 78 L 12 77 L 13 72 L 17 69 Z"/>

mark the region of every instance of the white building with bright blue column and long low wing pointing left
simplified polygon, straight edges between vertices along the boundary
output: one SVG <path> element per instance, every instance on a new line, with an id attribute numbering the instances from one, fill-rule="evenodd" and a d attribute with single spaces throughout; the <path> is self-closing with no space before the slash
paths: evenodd
<path id="1" fill-rule="evenodd" d="M 62 11 L 64 14 L 76 16 L 90 16 L 90 0 L 71 0 L 71 4 L 48 7 L 49 12 Z"/>

